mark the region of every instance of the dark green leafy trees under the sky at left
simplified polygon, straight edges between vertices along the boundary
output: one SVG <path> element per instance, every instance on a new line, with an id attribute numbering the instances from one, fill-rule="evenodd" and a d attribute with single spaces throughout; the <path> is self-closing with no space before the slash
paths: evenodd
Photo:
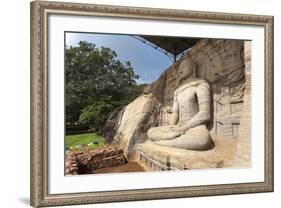
<path id="1" fill-rule="evenodd" d="M 80 41 L 65 56 L 66 122 L 81 122 L 101 130 L 116 107 L 135 99 L 143 86 L 130 62 L 121 63 L 110 48 Z"/>

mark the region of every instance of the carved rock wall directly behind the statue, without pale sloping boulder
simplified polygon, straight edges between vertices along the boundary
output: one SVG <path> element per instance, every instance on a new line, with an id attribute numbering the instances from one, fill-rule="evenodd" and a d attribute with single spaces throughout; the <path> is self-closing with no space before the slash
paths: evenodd
<path id="1" fill-rule="evenodd" d="M 237 138 L 245 86 L 244 42 L 202 39 L 180 61 L 169 67 L 152 88 L 162 103 L 160 126 L 168 124 L 170 114 L 164 109 L 172 106 L 173 93 L 181 79 L 177 69 L 182 61 L 196 64 L 196 77 L 211 85 L 213 113 L 209 129 L 226 139 Z"/>

